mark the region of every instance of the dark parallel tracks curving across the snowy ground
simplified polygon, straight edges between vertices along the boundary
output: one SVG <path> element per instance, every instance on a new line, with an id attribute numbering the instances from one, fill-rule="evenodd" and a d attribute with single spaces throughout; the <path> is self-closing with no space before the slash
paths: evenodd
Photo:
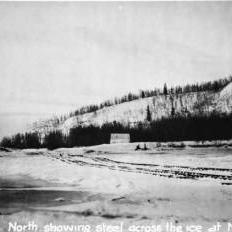
<path id="1" fill-rule="evenodd" d="M 162 176 L 167 178 L 192 179 L 192 180 L 210 178 L 210 179 L 217 179 L 221 181 L 232 181 L 232 169 L 228 169 L 228 168 L 189 167 L 189 166 L 160 165 L 160 164 L 149 164 L 149 163 L 132 163 L 132 162 L 116 161 L 106 157 L 99 157 L 94 155 L 56 157 L 56 159 L 59 159 L 67 163 L 75 163 L 79 166 L 108 168 L 111 170 L 149 174 L 149 175 Z"/>

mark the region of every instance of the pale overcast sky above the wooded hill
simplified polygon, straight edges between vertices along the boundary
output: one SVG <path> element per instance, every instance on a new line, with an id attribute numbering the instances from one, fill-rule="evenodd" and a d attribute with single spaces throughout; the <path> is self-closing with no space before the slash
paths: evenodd
<path id="1" fill-rule="evenodd" d="M 231 73 L 231 2 L 0 3 L 0 136 L 128 91 Z"/>

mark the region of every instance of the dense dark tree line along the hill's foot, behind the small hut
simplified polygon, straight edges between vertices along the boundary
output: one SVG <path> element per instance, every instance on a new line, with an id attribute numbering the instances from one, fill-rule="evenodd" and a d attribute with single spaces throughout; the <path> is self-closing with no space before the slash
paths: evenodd
<path id="1" fill-rule="evenodd" d="M 36 133 L 17 134 L 3 138 L 1 146 L 10 148 L 55 149 L 58 147 L 91 146 L 110 143 L 111 133 L 129 133 L 131 142 L 223 140 L 232 139 L 232 113 L 188 115 L 162 118 L 136 127 L 123 126 L 118 122 L 100 126 L 76 127 L 68 135 L 60 131 L 50 132 L 43 141 Z"/>

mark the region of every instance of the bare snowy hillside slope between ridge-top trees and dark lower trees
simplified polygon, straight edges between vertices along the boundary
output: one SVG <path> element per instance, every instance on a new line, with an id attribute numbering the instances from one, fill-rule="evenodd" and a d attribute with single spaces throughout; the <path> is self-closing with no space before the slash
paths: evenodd
<path id="1" fill-rule="evenodd" d="M 105 107 L 92 113 L 68 118 L 62 123 L 55 124 L 53 121 L 37 124 L 33 129 L 42 133 L 60 129 L 68 133 L 70 128 L 78 125 L 102 125 L 106 122 L 117 121 L 124 125 L 134 126 L 139 122 L 146 121 L 147 107 L 149 106 L 152 120 L 162 117 L 170 117 L 172 114 L 187 115 L 208 114 L 212 111 L 220 113 L 232 112 L 232 83 L 222 91 L 194 92 L 179 95 L 160 95 L 143 98 L 119 105 Z"/>

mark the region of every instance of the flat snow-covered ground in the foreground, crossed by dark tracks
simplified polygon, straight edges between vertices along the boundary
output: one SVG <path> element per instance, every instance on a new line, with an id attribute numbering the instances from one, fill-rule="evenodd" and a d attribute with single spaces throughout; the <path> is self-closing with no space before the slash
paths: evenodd
<path id="1" fill-rule="evenodd" d="M 225 229 L 232 221 L 230 147 L 136 145 L 1 152 L 0 231 L 15 220 L 34 220 L 41 231 L 50 222 L 123 222 L 127 231 L 167 222 Z"/>

